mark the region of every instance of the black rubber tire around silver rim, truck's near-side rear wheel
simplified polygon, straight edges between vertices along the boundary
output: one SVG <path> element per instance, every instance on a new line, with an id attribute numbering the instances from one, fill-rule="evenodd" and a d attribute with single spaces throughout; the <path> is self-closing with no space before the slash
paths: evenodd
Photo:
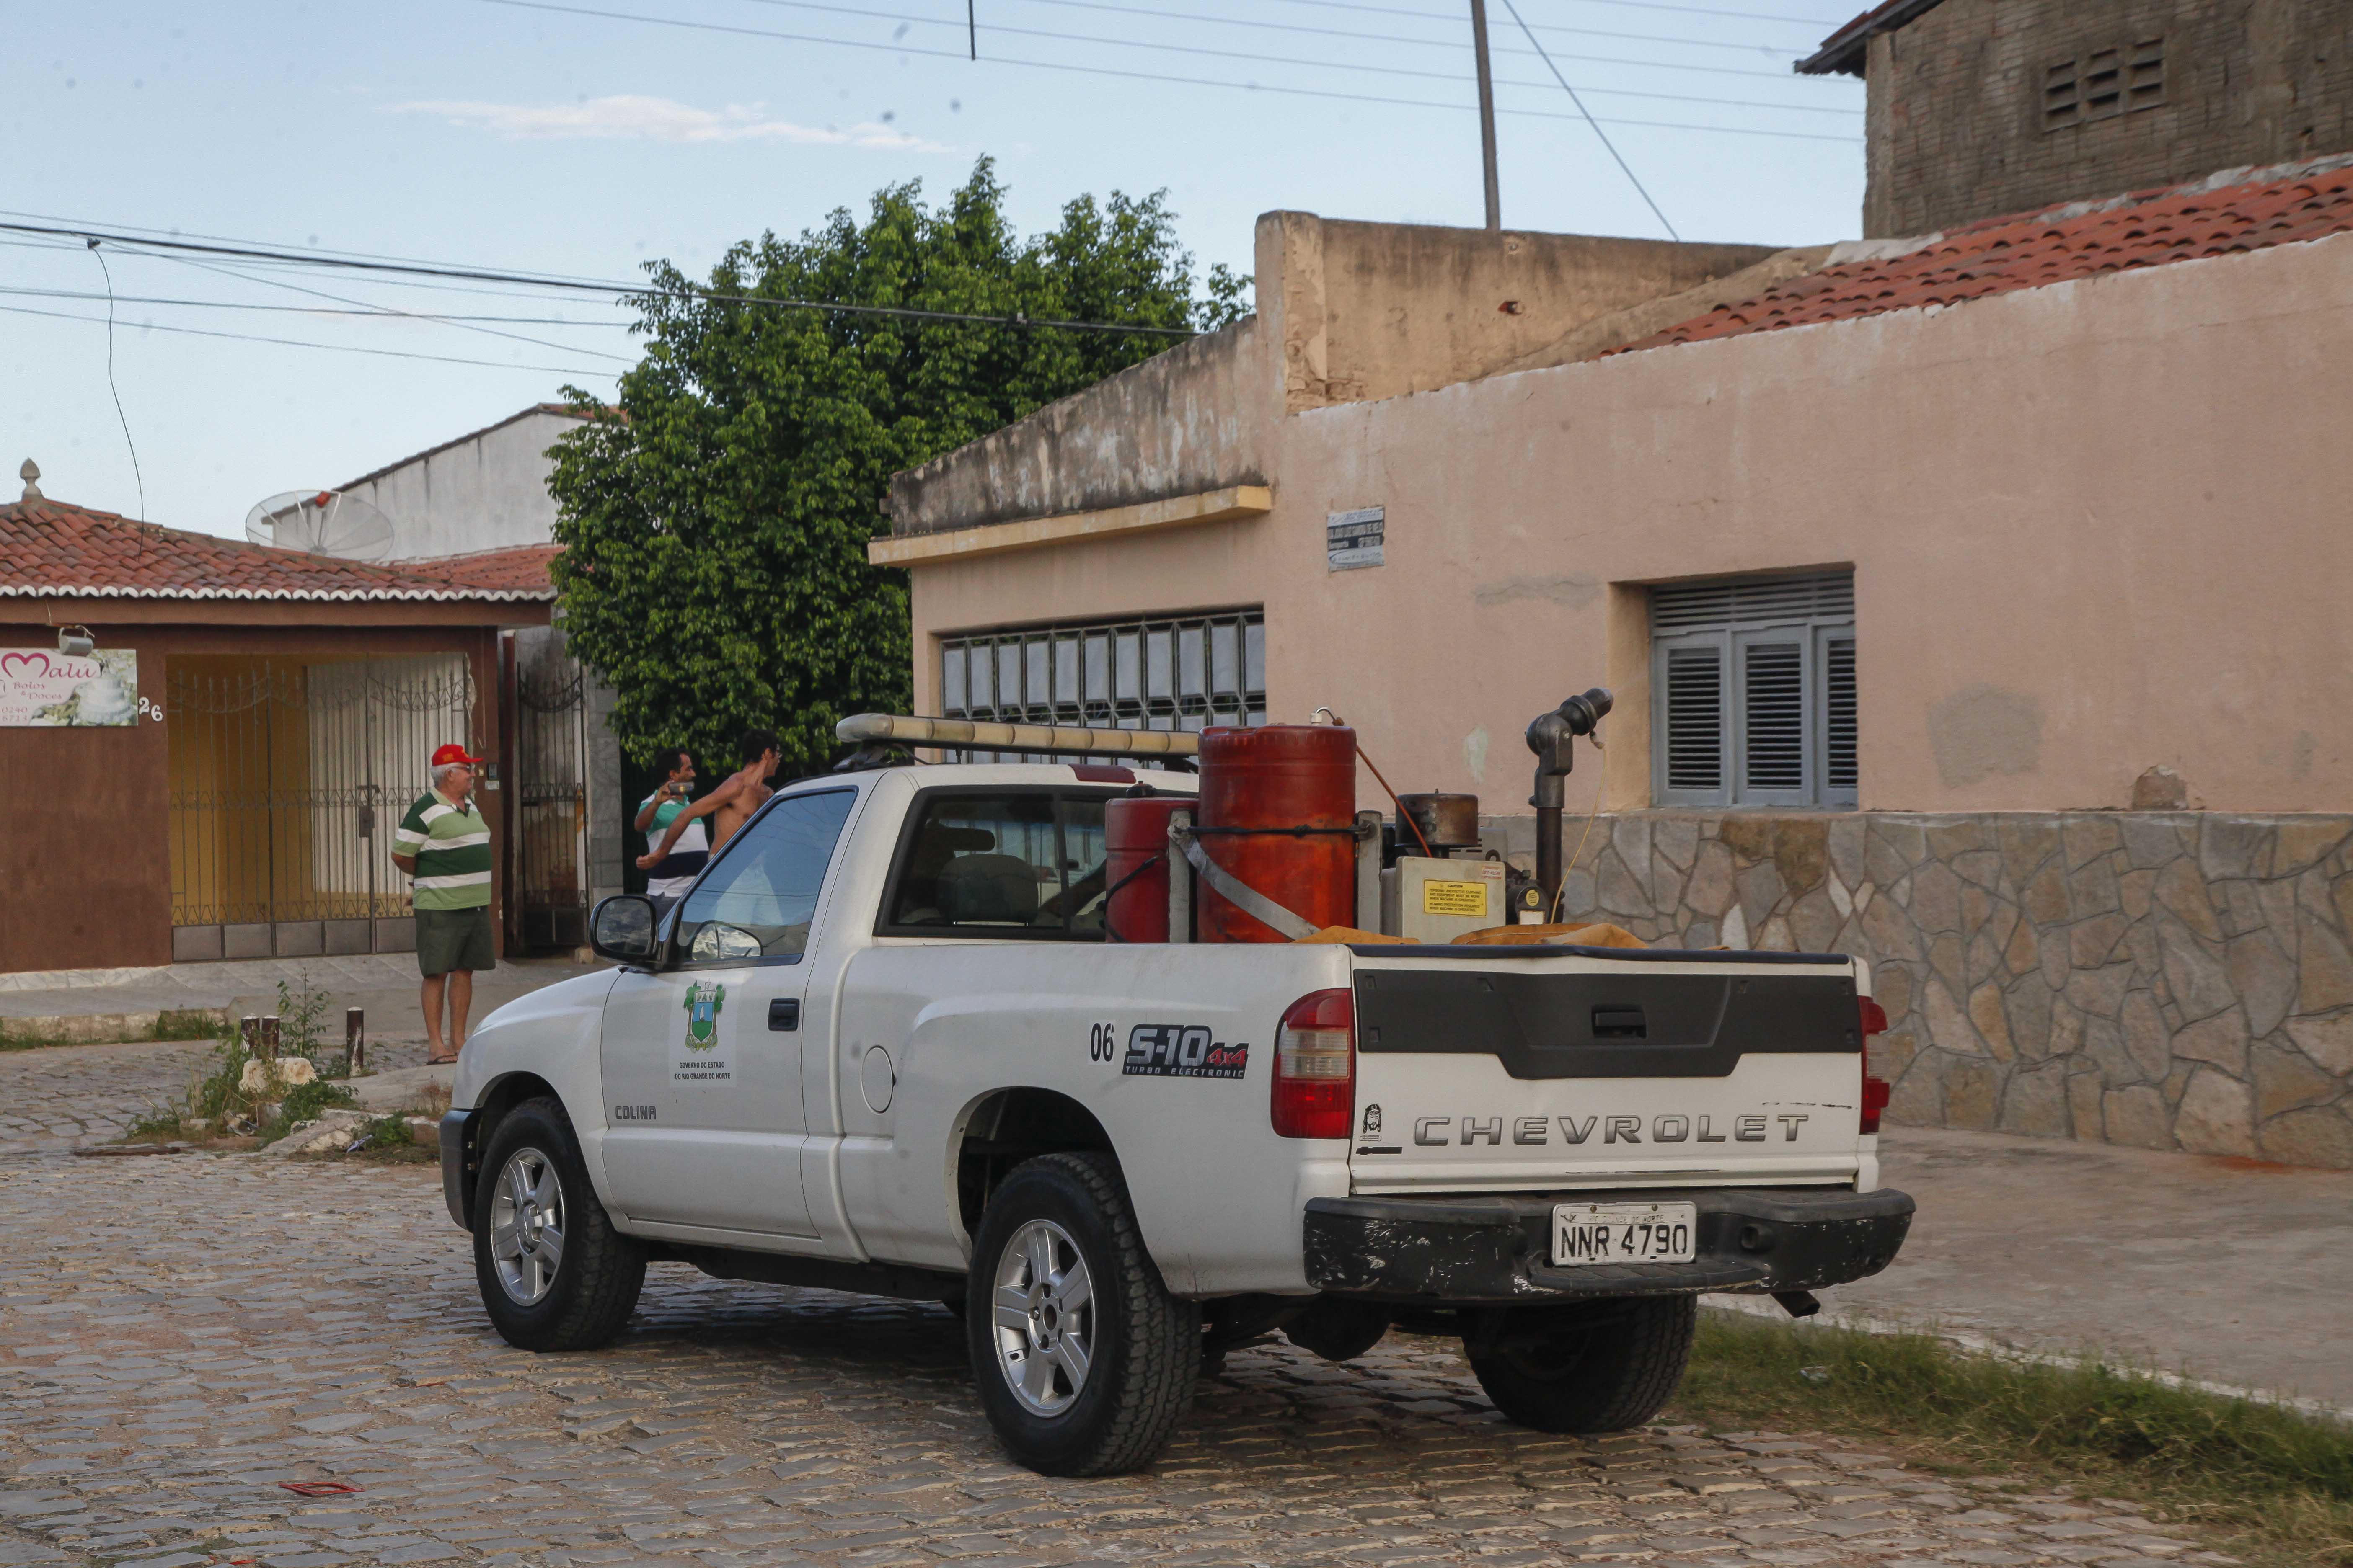
<path id="1" fill-rule="evenodd" d="M 1049 1366 L 1049 1382 L 1040 1389 L 1045 1401 L 1066 1401 L 1056 1410 L 1026 1403 L 998 1340 L 1000 1267 L 1019 1267 L 1019 1253 L 1007 1248 L 1016 1237 L 1033 1237 L 1038 1222 L 1059 1232 L 1054 1246 L 1066 1241 L 1064 1258 L 1075 1253 L 1092 1281 L 1082 1331 L 1071 1331 L 1075 1314 L 1061 1326 L 1061 1333 L 1085 1342 L 1085 1380 L 1071 1392 L 1066 1371 Z M 965 1338 L 972 1382 L 1016 1465 L 1047 1476 L 1106 1476 L 1160 1453 L 1191 1408 L 1200 1378 L 1200 1302 L 1169 1295 L 1144 1251 L 1127 1185 L 1108 1154 L 1042 1154 L 1016 1166 L 981 1213 L 969 1279 Z M 1026 1345 L 1014 1354 L 1028 1363 L 1052 1359 L 1035 1349 L 1038 1340 Z"/>

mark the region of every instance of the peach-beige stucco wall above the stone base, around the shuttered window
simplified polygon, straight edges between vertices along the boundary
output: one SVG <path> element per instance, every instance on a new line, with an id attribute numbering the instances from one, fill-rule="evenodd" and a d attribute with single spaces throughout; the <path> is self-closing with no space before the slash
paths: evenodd
<path id="1" fill-rule="evenodd" d="M 2344 811 L 2348 407 L 2353 237 L 1308 409 L 1264 520 L 920 567 L 918 710 L 939 632 L 1264 604 L 1275 719 L 1332 705 L 1398 788 L 1494 811 L 1525 722 L 1614 686 L 1628 809 L 1628 585 L 1852 564 L 1866 809 L 2120 809 L 2162 764 L 2193 806 Z M 1388 564 L 1329 574 L 1360 505 Z"/>

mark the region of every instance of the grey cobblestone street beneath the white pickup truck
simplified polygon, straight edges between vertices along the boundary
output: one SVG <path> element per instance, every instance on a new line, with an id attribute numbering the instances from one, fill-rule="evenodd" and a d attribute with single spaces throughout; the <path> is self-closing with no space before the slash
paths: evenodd
<path id="1" fill-rule="evenodd" d="M 5 1566 L 2212 1561 L 1849 1448 L 1541 1436 L 1412 1335 L 1238 1352 L 1151 1474 L 1052 1481 L 929 1305 L 656 1265 L 616 1347 L 508 1349 L 416 1168 L 19 1157 L 0 1234 Z"/>

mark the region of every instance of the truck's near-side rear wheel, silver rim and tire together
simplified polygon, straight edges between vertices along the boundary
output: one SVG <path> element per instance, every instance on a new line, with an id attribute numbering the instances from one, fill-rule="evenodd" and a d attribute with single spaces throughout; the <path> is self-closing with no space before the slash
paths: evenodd
<path id="1" fill-rule="evenodd" d="M 965 1291 L 972 1382 L 1019 1465 L 1146 1465 L 1193 1403 L 1200 1305 L 1169 1295 L 1108 1154 L 1042 1154 L 988 1199 Z"/>

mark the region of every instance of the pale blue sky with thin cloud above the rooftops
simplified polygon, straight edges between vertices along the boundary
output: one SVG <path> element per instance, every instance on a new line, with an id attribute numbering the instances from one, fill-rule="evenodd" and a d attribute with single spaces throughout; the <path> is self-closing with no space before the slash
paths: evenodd
<path id="1" fill-rule="evenodd" d="M 1685 240 L 1857 233 L 1861 85 L 1788 73 L 1857 0 L 1511 5 Z M 626 280 L 654 256 L 699 273 L 882 183 L 941 193 L 988 153 L 1024 228 L 1078 193 L 1167 188 L 1200 266 L 1247 270 L 1252 219 L 1278 207 L 1482 221 L 1466 14 L 974 0 L 974 63 L 962 0 L 9 5 L 0 209 Z M 1489 28 L 1504 223 L 1664 237 L 1506 0 Z M 144 484 L 146 517 L 214 534 L 268 494 L 339 484 L 565 381 L 609 390 L 635 353 L 600 299 L 207 270 L 113 244 L 104 263 L 113 388 L 99 259 L 0 233 L 0 484 L 33 456 L 49 496 L 139 515 Z"/>

